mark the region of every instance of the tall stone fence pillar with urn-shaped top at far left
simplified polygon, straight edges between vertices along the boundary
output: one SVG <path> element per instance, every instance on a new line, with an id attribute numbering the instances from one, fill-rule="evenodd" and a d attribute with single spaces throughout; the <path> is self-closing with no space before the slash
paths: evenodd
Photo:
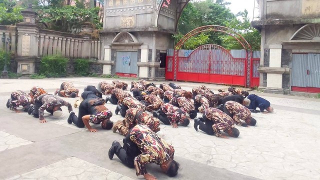
<path id="1" fill-rule="evenodd" d="M 36 12 L 33 11 L 29 4 L 26 10 L 21 10 L 23 22 L 16 24 L 18 32 L 17 43 L 17 72 L 31 74 L 34 69 L 38 56 L 38 30 L 35 24 Z"/>

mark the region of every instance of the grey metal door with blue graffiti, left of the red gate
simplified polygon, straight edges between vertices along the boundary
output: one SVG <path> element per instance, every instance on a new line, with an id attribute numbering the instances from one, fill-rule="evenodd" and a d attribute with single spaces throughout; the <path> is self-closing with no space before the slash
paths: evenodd
<path id="1" fill-rule="evenodd" d="M 115 72 L 136 74 L 137 73 L 137 52 L 117 51 Z"/>

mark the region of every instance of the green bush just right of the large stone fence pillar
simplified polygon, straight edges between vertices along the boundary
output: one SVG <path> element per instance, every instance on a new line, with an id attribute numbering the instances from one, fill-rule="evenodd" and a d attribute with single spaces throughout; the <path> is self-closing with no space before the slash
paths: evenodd
<path id="1" fill-rule="evenodd" d="M 68 59 L 61 56 L 45 56 L 42 57 L 39 74 L 43 74 L 47 77 L 57 77 L 66 75 L 66 65 Z"/>

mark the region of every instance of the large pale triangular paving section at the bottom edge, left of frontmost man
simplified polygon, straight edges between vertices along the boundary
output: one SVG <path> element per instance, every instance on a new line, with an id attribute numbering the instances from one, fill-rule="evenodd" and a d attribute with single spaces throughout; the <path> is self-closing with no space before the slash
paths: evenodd
<path id="1" fill-rule="evenodd" d="M 15 179 L 132 179 L 76 157 L 69 157 L 50 165 L 25 172 L 6 180 Z"/>

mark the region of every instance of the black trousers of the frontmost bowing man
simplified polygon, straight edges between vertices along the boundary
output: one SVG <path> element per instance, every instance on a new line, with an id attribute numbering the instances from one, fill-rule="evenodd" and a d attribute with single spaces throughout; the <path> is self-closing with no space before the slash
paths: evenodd
<path id="1" fill-rule="evenodd" d="M 128 167 L 134 167 L 134 158 L 141 154 L 138 146 L 130 139 L 130 131 L 123 139 L 123 147 L 115 146 L 115 155 Z"/>

